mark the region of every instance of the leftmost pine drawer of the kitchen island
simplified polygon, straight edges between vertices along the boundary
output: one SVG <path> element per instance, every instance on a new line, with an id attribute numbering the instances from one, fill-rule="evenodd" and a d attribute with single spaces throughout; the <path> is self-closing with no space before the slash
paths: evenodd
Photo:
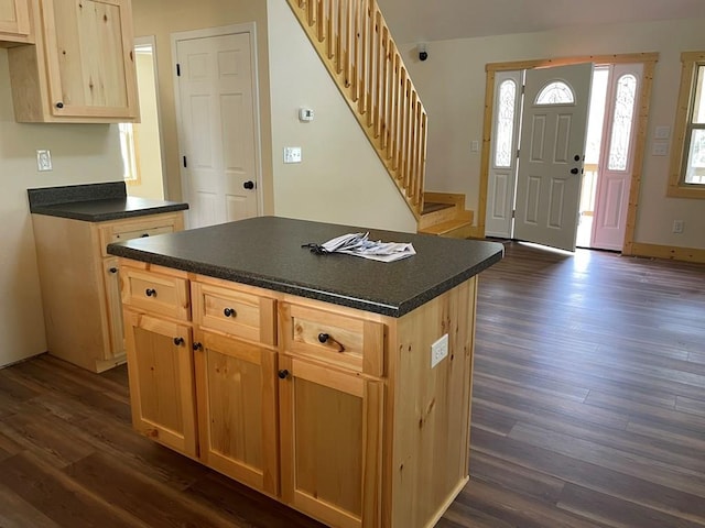
<path id="1" fill-rule="evenodd" d="M 185 277 L 127 265 L 120 270 L 120 282 L 124 306 L 191 320 L 191 295 Z"/>

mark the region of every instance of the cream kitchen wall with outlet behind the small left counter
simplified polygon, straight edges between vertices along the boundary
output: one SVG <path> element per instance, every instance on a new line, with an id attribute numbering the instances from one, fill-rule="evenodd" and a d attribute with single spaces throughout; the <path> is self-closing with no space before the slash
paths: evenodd
<path id="1" fill-rule="evenodd" d="M 37 148 L 51 150 L 54 170 L 36 170 Z M 46 351 L 26 189 L 121 177 L 117 127 L 14 122 L 8 53 L 0 48 L 0 366 Z"/>

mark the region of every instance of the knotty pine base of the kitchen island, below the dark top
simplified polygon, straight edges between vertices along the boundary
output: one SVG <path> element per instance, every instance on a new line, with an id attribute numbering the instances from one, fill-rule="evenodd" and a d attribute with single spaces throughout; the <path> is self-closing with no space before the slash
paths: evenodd
<path id="1" fill-rule="evenodd" d="M 187 276 L 193 320 L 123 295 L 134 427 L 332 527 L 434 526 L 468 481 L 476 278 L 393 318 Z"/>

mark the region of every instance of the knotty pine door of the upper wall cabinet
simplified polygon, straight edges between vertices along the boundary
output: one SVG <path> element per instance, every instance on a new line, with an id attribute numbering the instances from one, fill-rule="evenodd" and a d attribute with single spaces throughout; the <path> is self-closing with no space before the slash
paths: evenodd
<path id="1" fill-rule="evenodd" d="M 55 117 L 138 116 L 129 0 L 41 0 Z"/>

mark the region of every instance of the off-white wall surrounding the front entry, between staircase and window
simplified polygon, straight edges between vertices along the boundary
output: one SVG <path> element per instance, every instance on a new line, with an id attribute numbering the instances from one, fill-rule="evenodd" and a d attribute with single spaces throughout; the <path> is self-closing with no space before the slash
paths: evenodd
<path id="1" fill-rule="evenodd" d="M 394 21 L 388 22 L 393 34 Z M 655 127 L 673 128 L 680 54 L 705 50 L 704 26 L 705 19 L 697 19 L 432 42 L 424 63 L 415 57 L 415 43 L 400 46 L 429 112 L 426 189 L 465 193 L 468 209 L 477 211 L 480 153 L 470 152 L 470 143 L 481 144 L 487 63 L 659 52 L 648 131 L 651 140 Z M 634 240 L 705 249 L 705 200 L 666 198 L 668 168 L 668 156 L 647 153 Z M 671 233 L 675 219 L 685 221 L 683 234 Z"/>

